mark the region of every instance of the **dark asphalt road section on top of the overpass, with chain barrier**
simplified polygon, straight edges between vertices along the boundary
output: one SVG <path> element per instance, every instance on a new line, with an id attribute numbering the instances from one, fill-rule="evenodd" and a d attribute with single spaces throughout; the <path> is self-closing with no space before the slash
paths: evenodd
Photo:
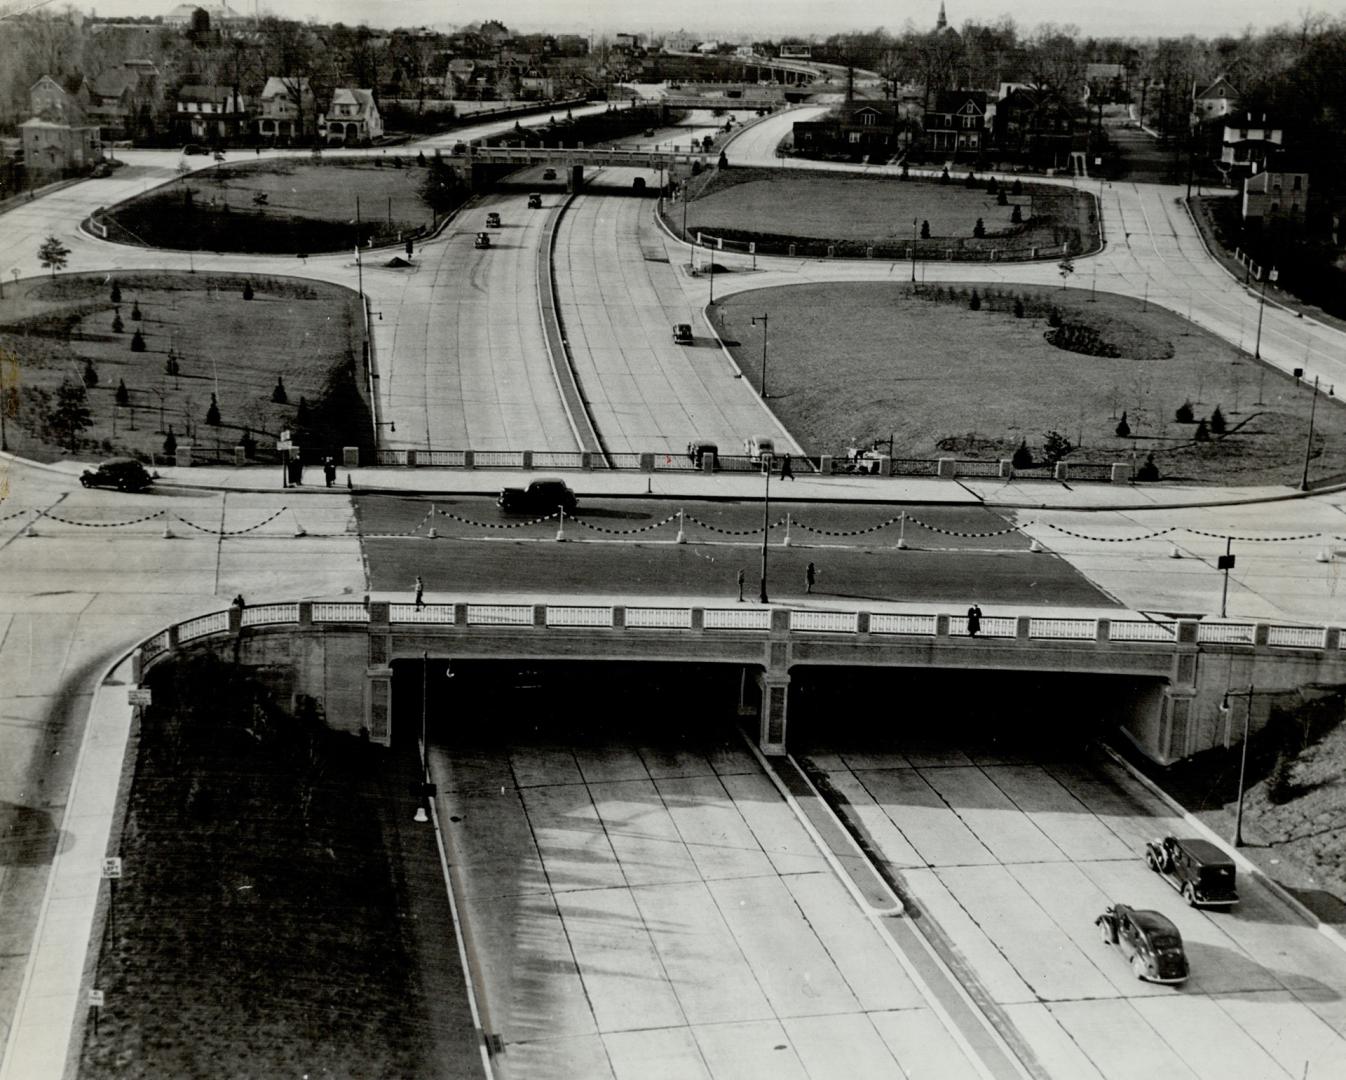
<path id="1" fill-rule="evenodd" d="M 433 541 L 424 539 L 431 506 L 439 510 L 435 528 L 440 539 Z M 676 543 L 677 521 L 666 520 L 680 506 L 686 512 L 685 544 Z M 760 508 L 752 504 L 586 500 L 580 522 L 592 528 L 567 524 L 568 543 L 555 541 L 555 521 L 518 525 L 518 518 L 503 516 L 482 498 L 359 496 L 357 508 L 370 588 L 376 593 L 405 593 L 420 575 L 427 597 L 437 602 L 482 594 L 538 598 L 572 593 L 616 597 L 615 602 L 625 602 L 622 595 L 736 602 L 742 568 L 750 583 L 747 598 L 755 601 L 758 595 Z M 999 514 L 976 508 L 907 509 L 949 532 L 918 535 L 909 528 L 911 548 L 899 551 L 895 527 L 859 537 L 816 535 L 795 527 L 789 547 L 782 543 L 783 528 L 775 529 L 767 559 L 769 595 L 802 603 L 805 568 L 812 562 L 818 575 L 810 597 L 814 606 L 849 610 L 867 602 L 942 602 L 958 611 L 976 599 L 988 615 L 997 603 L 1100 610 L 1113 606 L 1067 563 L 1030 552 L 1026 537 L 1004 533 L 1007 521 Z M 773 520 L 783 522 L 787 513 L 814 528 L 835 531 L 868 528 L 892 516 L 880 513 L 880 508 L 861 513 L 773 505 Z M 664 524 L 650 529 L 657 522 Z M 412 531 L 412 536 L 398 536 Z"/>

